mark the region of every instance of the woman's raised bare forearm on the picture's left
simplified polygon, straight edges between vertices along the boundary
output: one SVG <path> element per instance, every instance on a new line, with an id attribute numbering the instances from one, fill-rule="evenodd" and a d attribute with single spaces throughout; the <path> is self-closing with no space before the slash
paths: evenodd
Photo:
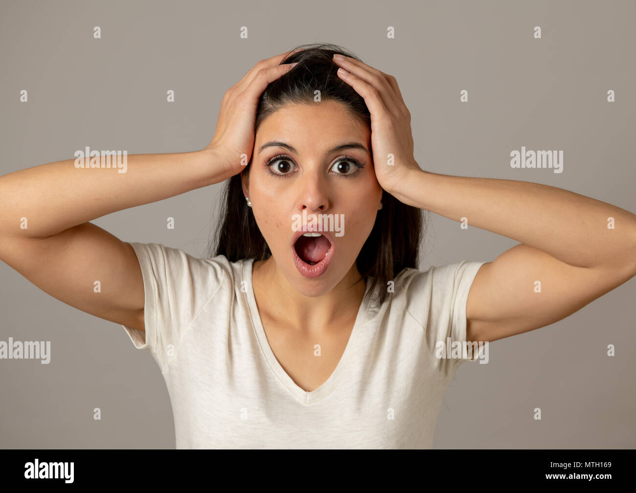
<path id="1" fill-rule="evenodd" d="M 213 160 L 209 151 L 192 151 L 130 155 L 125 172 L 77 168 L 75 159 L 18 170 L 0 177 L 0 235 L 45 238 L 111 212 L 218 183 L 226 176 Z"/>

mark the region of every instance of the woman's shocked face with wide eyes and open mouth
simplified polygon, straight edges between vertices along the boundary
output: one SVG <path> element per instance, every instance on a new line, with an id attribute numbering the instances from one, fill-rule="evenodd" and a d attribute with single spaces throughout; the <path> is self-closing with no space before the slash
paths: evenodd
<path id="1" fill-rule="evenodd" d="M 357 147 L 332 150 L 343 144 Z M 258 128 L 248 171 L 242 176 L 245 197 L 289 284 L 320 296 L 345 277 L 357 281 L 355 261 L 382 198 L 368 127 L 354 122 L 339 102 L 287 105 Z M 300 237 L 294 245 L 312 226 L 328 241 Z"/>

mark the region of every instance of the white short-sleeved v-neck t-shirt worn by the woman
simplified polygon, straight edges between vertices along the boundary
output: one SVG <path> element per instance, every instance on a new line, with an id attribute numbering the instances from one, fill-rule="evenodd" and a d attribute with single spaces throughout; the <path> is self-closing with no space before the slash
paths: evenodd
<path id="1" fill-rule="evenodd" d="M 268 344 L 252 259 L 130 244 L 146 330 L 123 328 L 162 371 L 177 448 L 431 448 L 448 382 L 477 359 L 437 358 L 435 348 L 466 340 L 466 300 L 483 261 L 405 268 L 382 305 L 365 296 L 342 359 L 306 392 Z"/>

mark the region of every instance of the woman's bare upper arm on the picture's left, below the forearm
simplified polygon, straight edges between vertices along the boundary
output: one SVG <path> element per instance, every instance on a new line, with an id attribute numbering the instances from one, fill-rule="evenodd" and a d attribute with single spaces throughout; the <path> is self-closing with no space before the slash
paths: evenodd
<path id="1" fill-rule="evenodd" d="M 144 330 L 137 256 L 130 244 L 99 226 L 84 223 L 38 240 L 4 238 L 0 259 L 67 305 Z"/>

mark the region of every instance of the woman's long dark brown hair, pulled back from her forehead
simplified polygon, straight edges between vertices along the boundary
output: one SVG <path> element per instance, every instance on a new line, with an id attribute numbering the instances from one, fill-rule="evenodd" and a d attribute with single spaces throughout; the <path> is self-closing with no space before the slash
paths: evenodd
<path id="1" fill-rule="evenodd" d="M 333 63 L 332 56 L 340 53 L 360 59 L 342 46 L 326 43 L 300 45 L 294 49 L 299 48 L 302 51 L 292 53 L 281 62 L 298 62 L 298 65 L 270 83 L 261 94 L 254 133 L 267 116 L 287 104 L 320 104 L 314 102 L 315 90 L 320 90 L 321 101 L 333 100 L 344 104 L 352 119 L 371 128 L 371 115 L 363 97 L 338 78 L 338 66 Z M 242 171 L 247 172 L 249 164 Z M 236 174 L 227 181 L 221 197 L 221 228 L 217 230 L 214 241 L 216 246 L 212 242 L 209 245 L 208 256 L 225 255 L 229 261 L 268 259 L 272 252 L 256 224 L 251 207 L 245 202 L 241 174 Z M 417 268 L 420 242 L 424 234 L 424 220 L 420 209 L 403 204 L 384 190 L 382 204 L 375 225 L 356 259 L 364 281 L 367 281 L 368 276 L 373 277 L 368 295 L 378 289 L 380 303 L 389 295 L 389 281 L 394 280 L 404 268 Z"/>

